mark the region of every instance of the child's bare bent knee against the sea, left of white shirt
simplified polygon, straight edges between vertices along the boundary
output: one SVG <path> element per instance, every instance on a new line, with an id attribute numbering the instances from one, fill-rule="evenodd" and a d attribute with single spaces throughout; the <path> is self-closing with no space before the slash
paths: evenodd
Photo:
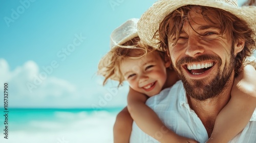
<path id="1" fill-rule="evenodd" d="M 129 143 L 132 132 L 133 118 L 127 107 L 123 108 L 116 116 L 114 125 L 114 143 Z"/>

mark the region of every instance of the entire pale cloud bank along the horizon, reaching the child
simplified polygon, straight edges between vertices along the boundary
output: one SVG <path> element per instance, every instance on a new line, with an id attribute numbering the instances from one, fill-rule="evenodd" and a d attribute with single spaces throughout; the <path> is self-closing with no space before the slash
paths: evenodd
<path id="1" fill-rule="evenodd" d="M 51 76 L 50 69 L 40 71 L 34 61 L 27 61 L 10 71 L 5 59 L 0 59 L 0 83 L 8 82 L 12 107 L 116 107 L 125 106 L 127 86 L 102 86 L 102 79 L 93 79 L 90 87 L 76 86 L 67 80 Z M 85 79 L 86 80 L 86 79 Z M 0 86 L 0 91 L 3 91 Z M 0 102 L 3 98 L 0 99 Z"/>

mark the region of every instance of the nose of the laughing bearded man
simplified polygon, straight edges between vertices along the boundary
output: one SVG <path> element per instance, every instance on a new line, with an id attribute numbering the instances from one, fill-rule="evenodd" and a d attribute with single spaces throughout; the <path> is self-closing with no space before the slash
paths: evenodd
<path id="1" fill-rule="evenodd" d="M 204 53 L 204 47 L 201 44 L 201 39 L 198 36 L 191 36 L 188 38 L 186 55 L 196 57 Z"/>

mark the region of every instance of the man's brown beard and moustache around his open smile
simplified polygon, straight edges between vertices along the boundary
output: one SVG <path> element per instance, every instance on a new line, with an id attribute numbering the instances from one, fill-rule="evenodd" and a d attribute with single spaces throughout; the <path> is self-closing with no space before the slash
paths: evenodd
<path id="1" fill-rule="evenodd" d="M 218 71 L 216 76 L 211 80 L 187 80 L 184 74 L 182 74 L 181 65 L 183 63 L 191 62 L 203 62 L 208 60 L 214 60 L 218 62 Z M 222 63 L 221 58 L 218 56 L 212 55 L 202 55 L 197 58 L 184 57 L 181 60 L 177 61 L 177 67 L 175 67 L 176 72 L 178 73 L 180 79 L 183 82 L 186 93 L 189 97 L 192 97 L 196 100 L 204 101 L 206 99 L 217 97 L 221 91 L 226 88 L 226 83 L 231 78 L 230 75 L 234 69 L 234 56 L 231 54 L 230 62 L 225 63 L 224 69 L 220 71 L 220 65 Z M 208 82 L 207 82 L 208 81 Z"/>

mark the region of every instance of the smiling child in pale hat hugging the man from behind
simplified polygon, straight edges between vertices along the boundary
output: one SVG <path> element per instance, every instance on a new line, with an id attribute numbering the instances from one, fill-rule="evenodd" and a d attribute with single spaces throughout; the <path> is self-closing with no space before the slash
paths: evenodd
<path id="1" fill-rule="evenodd" d="M 179 78 L 175 74 L 175 71 L 169 68 L 170 60 L 164 52 L 157 51 L 155 48 L 145 45 L 140 41 L 137 35 L 137 20 L 138 19 L 129 19 L 113 31 L 111 34 L 112 49 L 99 63 L 99 74 L 105 77 L 103 84 L 105 84 L 108 79 L 119 81 L 119 85 L 124 80 L 130 84 L 130 92 L 127 97 L 127 107 L 130 113 L 127 107 L 125 107 L 117 115 L 114 125 L 114 142 L 129 142 L 133 120 L 138 127 L 152 137 L 155 137 L 154 134 L 157 131 L 164 130 L 165 132 L 162 138 L 155 137 L 160 142 L 197 142 L 194 139 L 179 136 L 167 129 L 157 114 L 145 105 L 145 101 L 148 97 L 155 96 L 164 88 L 172 86 Z M 251 75 L 253 72 L 255 74 L 254 69 L 252 71 L 251 68 L 245 68 L 244 73 L 241 73 L 238 77 L 238 81 L 243 81 L 242 85 L 249 83 L 255 88 L 255 83 L 252 84 L 253 81 L 249 80 L 250 76 L 246 77 L 248 73 Z M 232 98 L 228 103 L 229 106 L 224 109 L 235 108 L 234 106 L 238 104 L 235 102 L 237 101 L 236 99 L 246 99 L 250 96 L 248 95 L 249 92 L 245 91 L 247 90 L 246 88 L 243 88 L 245 90 L 240 90 L 241 87 L 244 86 L 238 88 L 238 86 L 235 85 L 237 84 L 233 86 Z M 143 94 L 139 94 L 138 92 Z M 239 103 L 239 106 L 248 104 L 246 100 L 242 101 L 243 102 Z M 232 123 L 232 125 L 236 125 L 236 127 L 228 126 L 232 127 L 232 130 L 227 133 L 222 131 L 224 127 L 218 126 L 219 128 L 214 129 L 211 138 L 230 140 L 234 135 L 239 133 L 245 127 L 245 123 L 249 121 L 255 109 L 255 100 L 251 100 L 249 105 L 250 106 L 247 105 L 247 113 L 234 113 L 237 116 L 243 114 L 243 117 L 245 117 L 241 119 L 241 121 Z M 223 125 L 225 123 L 222 121 L 228 121 L 228 118 L 233 117 L 234 114 L 226 115 L 227 111 L 224 109 L 217 117 L 216 125 Z M 209 140 L 209 142 L 212 140 Z"/>

